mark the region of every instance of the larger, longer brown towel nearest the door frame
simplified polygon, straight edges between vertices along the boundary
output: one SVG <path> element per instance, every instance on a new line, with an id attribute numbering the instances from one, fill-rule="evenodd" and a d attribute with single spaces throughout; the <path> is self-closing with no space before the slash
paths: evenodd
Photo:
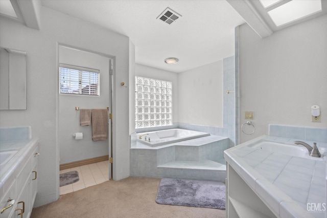
<path id="1" fill-rule="evenodd" d="M 108 139 L 108 110 L 92 110 L 92 138 L 93 141 Z"/>

